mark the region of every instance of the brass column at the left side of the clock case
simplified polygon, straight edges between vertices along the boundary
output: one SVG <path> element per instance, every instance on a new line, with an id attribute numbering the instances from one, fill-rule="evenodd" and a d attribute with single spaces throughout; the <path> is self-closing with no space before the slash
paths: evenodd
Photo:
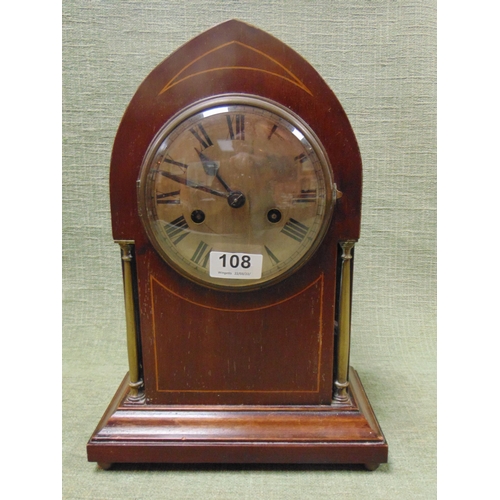
<path id="1" fill-rule="evenodd" d="M 123 291 L 125 295 L 125 322 L 127 326 L 127 351 L 129 366 L 129 393 L 126 399 L 130 404 L 141 404 L 144 402 L 143 381 L 140 378 L 139 354 L 137 346 L 137 329 L 135 317 L 134 284 L 132 259 L 133 241 L 117 241 L 120 245 L 123 263 Z"/>

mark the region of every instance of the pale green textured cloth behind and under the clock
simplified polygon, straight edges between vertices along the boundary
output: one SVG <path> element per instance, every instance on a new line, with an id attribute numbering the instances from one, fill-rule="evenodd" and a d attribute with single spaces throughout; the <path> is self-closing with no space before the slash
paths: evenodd
<path id="1" fill-rule="evenodd" d="M 127 371 L 108 169 L 125 108 L 193 36 L 239 18 L 305 57 L 351 120 L 364 165 L 351 364 L 389 442 L 343 467 L 98 470 L 85 445 Z M 107 1 L 63 5 L 63 491 L 67 499 L 436 496 L 436 5 L 431 0 Z"/>

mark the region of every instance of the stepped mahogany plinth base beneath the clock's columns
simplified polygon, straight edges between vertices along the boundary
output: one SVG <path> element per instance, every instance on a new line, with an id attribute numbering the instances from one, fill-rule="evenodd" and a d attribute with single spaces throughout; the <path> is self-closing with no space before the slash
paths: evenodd
<path id="1" fill-rule="evenodd" d="M 126 406 L 125 377 L 87 444 L 90 462 L 387 462 L 388 446 L 355 370 L 352 405 Z"/>

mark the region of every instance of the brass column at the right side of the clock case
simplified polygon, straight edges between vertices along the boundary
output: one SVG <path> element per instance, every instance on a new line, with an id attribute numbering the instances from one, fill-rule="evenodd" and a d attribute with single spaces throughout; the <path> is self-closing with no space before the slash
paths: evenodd
<path id="1" fill-rule="evenodd" d="M 336 352 L 335 388 L 333 400 L 336 403 L 349 403 L 349 351 L 351 347 L 351 261 L 354 241 L 343 241 L 342 267 L 340 271 L 340 296 L 338 315 L 338 337 Z"/>

